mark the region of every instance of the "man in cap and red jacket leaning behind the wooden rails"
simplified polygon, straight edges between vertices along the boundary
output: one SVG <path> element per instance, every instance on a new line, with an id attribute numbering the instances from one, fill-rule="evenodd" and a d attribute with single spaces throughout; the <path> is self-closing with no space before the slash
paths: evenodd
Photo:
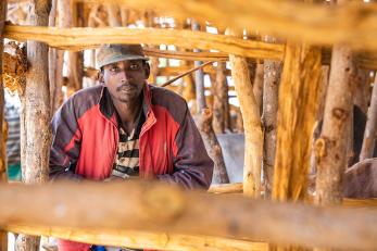
<path id="1" fill-rule="evenodd" d="M 139 45 L 105 45 L 97 55 L 99 86 L 78 91 L 52 120 L 50 178 L 155 178 L 208 189 L 209 158 L 187 103 L 149 86 Z M 60 251 L 89 244 L 60 241 Z"/>

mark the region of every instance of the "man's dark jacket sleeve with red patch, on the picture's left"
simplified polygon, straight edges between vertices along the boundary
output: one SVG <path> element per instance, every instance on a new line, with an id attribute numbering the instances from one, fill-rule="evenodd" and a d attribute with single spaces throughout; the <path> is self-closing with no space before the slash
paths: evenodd
<path id="1" fill-rule="evenodd" d="M 83 179 L 80 175 L 75 174 L 81 134 L 75 115 L 73 98 L 67 100 L 54 114 L 51 129 L 50 179 Z"/>

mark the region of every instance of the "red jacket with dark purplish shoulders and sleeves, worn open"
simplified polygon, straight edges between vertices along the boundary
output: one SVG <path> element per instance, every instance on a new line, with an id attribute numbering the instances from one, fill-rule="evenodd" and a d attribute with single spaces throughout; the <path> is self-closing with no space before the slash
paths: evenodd
<path id="1" fill-rule="evenodd" d="M 186 101 L 167 89 L 146 85 L 142 110 L 146 122 L 139 136 L 140 177 L 208 189 L 213 162 Z M 114 112 L 103 86 L 83 89 L 60 108 L 51 124 L 50 178 L 101 180 L 110 176 L 118 142 Z M 60 246 L 60 250 L 88 250 L 88 246 Z"/>

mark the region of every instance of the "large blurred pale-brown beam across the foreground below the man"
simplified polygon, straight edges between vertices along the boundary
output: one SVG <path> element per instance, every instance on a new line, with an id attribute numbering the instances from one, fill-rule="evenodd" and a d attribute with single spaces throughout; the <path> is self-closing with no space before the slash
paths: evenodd
<path id="1" fill-rule="evenodd" d="M 279 244 L 376 250 L 377 226 L 370 224 L 374 222 L 377 222 L 375 210 L 216 196 L 159 183 L 0 184 L 2 227 L 168 231 Z"/>

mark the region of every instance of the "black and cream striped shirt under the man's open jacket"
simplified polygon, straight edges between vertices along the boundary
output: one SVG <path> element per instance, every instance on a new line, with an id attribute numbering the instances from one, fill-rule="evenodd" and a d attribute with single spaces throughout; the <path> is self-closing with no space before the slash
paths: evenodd
<path id="1" fill-rule="evenodd" d="M 141 111 L 136 127 L 129 135 L 120 126 L 120 141 L 112 171 L 113 176 L 121 178 L 139 176 L 139 135 L 144 121 L 146 115 Z"/>

